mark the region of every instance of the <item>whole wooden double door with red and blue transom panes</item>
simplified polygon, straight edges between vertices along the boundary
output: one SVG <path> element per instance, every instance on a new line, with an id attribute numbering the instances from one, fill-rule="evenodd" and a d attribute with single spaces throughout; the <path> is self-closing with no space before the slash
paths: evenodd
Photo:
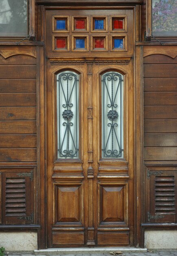
<path id="1" fill-rule="evenodd" d="M 45 15 L 48 247 L 133 245 L 133 9 Z"/>

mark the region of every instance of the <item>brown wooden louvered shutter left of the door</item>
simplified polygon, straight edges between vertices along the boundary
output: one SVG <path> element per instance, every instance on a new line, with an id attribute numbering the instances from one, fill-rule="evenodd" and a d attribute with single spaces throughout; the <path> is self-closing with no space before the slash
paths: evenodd
<path id="1" fill-rule="evenodd" d="M 34 224 L 33 169 L 2 173 L 2 224 Z"/>

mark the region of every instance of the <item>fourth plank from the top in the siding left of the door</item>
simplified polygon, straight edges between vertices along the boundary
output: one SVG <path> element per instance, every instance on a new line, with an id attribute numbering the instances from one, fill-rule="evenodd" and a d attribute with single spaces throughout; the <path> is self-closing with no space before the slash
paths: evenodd
<path id="1" fill-rule="evenodd" d="M 1 93 L 0 106 L 36 106 L 36 93 Z"/>

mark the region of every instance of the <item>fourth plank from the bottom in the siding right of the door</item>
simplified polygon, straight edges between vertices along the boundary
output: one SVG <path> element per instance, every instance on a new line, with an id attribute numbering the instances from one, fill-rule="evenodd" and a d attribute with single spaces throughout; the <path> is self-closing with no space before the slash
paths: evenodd
<path id="1" fill-rule="evenodd" d="M 144 106 L 144 119 L 177 119 L 177 106 Z"/>

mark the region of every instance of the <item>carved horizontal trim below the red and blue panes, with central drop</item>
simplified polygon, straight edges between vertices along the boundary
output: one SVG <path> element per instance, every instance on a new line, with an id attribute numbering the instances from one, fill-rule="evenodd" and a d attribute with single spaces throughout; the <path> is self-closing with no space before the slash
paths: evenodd
<path id="1" fill-rule="evenodd" d="M 117 60 L 117 61 L 111 61 L 111 60 L 105 60 L 105 61 L 92 61 L 90 63 L 89 61 L 50 61 L 50 64 L 53 65 L 84 65 L 87 63 L 87 74 L 92 75 L 92 64 L 96 65 L 128 65 L 130 63 L 129 60 Z"/>

